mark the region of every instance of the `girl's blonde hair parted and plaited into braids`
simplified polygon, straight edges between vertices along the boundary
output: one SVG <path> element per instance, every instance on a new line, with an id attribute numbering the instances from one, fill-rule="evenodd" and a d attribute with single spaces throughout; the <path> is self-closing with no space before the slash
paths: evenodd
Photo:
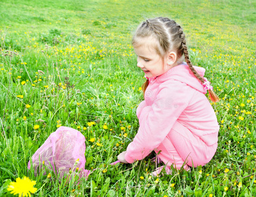
<path id="1" fill-rule="evenodd" d="M 191 72 L 193 72 L 194 76 L 197 77 L 201 83 L 205 83 L 205 80 L 193 68 L 191 60 L 189 59 L 185 34 L 179 24 L 174 20 L 164 17 L 147 19 L 138 26 L 135 34 L 133 35 L 133 47 L 141 45 L 141 38 L 151 36 L 155 37 L 158 41 L 158 43 L 153 45 L 158 55 L 163 57 L 169 51 L 175 51 L 177 53 L 177 59 L 180 59 L 184 55 L 185 62 L 187 62 Z M 146 79 L 143 84 L 143 92 L 146 91 L 146 87 L 148 87 L 148 79 Z M 218 102 L 218 96 L 214 91 L 208 90 L 208 93 L 210 95 L 210 100 Z"/>

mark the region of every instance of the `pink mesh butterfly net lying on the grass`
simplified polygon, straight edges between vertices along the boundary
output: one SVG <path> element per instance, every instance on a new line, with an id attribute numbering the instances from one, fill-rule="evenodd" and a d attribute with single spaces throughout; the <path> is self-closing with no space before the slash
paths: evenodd
<path id="1" fill-rule="evenodd" d="M 44 167 L 47 167 L 59 174 L 60 177 L 69 173 L 70 170 L 76 171 L 77 167 L 79 167 L 79 178 L 87 178 L 91 171 L 84 169 L 86 162 L 84 153 L 84 135 L 70 127 L 59 127 L 36 150 L 32 156 L 32 167 L 34 168 L 35 175 L 44 170 Z M 117 163 L 119 163 L 118 160 L 110 165 Z M 30 165 L 29 161 L 28 169 L 30 169 Z"/>

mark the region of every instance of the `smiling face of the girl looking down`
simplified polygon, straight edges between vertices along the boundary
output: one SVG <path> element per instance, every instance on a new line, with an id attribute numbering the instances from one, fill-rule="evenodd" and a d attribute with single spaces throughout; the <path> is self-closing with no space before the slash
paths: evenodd
<path id="1" fill-rule="evenodd" d="M 137 66 L 143 70 L 146 77 L 156 77 L 167 72 L 170 69 L 170 66 L 167 65 L 168 58 L 162 58 L 156 53 L 156 50 L 151 47 L 151 37 L 143 38 L 141 41 L 144 44 L 139 47 L 134 47 L 134 51 L 137 55 Z"/>

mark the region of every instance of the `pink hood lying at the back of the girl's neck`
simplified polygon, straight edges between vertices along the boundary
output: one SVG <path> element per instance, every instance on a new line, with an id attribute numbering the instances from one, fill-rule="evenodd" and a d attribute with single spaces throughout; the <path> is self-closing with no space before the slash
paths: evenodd
<path id="1" fill-rule="evenodd" d="M 199 66 L 193 66 L 197 73 L 203 77 L 205 75 L 205 68 L 201 68 Z M 164 82 L 170 79 L 174 79 L 177 81 L 181 81 L 182 83 L 186 83 L 193 89 L 200 91 L 201 93 L 206 94 L 207 90 L 203 87 L 201 81 L 194 76 L 193 72 L 189 69 L 189 66 L 186 62 L 182 62 L 177 66 L 174 66 L 168 72 L 162 74 L 161 76 L 157 77 L 158 81 Z"/>

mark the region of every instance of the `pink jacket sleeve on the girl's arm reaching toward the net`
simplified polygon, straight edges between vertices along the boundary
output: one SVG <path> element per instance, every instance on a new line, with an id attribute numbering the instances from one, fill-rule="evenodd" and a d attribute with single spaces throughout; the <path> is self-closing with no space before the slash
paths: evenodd
<path id="1" fill-rule="evenodd" d="M 138 116 L 139 131 L 127 146 L 125 160 L 128 163 L 142 160 L 164 141 L 189 103 L 187 88 L 179 82 L 171 88 L 160 89 L 152 106 L 144 106 Z"/>

